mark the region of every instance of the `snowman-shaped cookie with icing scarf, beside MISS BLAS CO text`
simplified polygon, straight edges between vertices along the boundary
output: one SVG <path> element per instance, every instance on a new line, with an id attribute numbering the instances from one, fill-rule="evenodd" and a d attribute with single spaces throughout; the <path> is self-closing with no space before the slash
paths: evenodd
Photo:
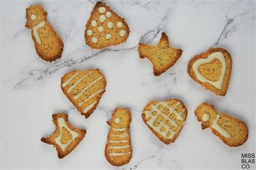
<path id="1" fill-rule="evenodd" d="M 240 146 L 248 138 L 248 128 L 244 122 L 238 118 L 218 112 L 211 104 L 200 104 L 194 114 L 197 120 L 201 122 L 202 129 L 210 128 L 212 133 L 228 146 Z"/>

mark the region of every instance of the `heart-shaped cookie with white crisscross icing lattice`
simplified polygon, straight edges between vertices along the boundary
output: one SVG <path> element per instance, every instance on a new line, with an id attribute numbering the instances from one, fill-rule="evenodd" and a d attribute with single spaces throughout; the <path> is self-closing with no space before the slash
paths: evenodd
<path id="1" fill-rule="evenodd" d="M 142 112 L 147 127 L 164 144 L 173 143 L 179 136 L 187 118 L 187 109 L 183 102 L 176 98 L 166 101 L 153 101 L 147 104 Z"/>

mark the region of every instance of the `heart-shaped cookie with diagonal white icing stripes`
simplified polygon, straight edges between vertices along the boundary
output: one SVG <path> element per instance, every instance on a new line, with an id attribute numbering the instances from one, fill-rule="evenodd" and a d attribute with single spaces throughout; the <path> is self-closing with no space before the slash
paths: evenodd
<path id="1" fill-rule="evenodd" d="M 106 79 L 98 69 L 73 70 L 61 80 L 63 93 L 88 118 L 105 93 Z"/>

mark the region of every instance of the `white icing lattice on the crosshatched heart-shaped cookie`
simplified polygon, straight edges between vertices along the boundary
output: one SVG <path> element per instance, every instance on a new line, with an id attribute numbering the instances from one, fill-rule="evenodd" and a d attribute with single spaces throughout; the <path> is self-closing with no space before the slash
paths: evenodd
<path id="1" fill-rule="evenodd" d="M 169 101 L 170 102 L 170 101 Z M 185 123 L 184 121 L 184 118 L 182 117 L 182 114 L 183 112 L 185 111 L 185 109 L 183 109 L 181 112 L 177 112 L 175 111 L 175 109 L 178 107 L 178 105 L 180 104 L 180 102 L 176 103 L 176 105 L 174 105 L 174 107 L 170 107 L 169 106 L 169 102 L 159 102 L 157 103 L 156 105 L 153 105 L 151 104 L 150 106 L 152 107 L 152 110 L 145 110 L 144 113 L 146 115 L 146 124 L 149 125 L 151 128 L 153 128 L 154 130 L 156 130 L 158 133 L 160 133 L 161 135 L 163 135 L 165 138 L 168 138 L 168 139 L 172 139 L 175 134 L 179 131 L 179 129 L 181 128 L 181 126 L 183 126 L 183 124 Z M 159 105 L 163 105 L 163 107 L 161 109 L 159 109 Z M 163 111 L 164 108 L 168 108 L 170 110 L 170 113 L 168 115 L 165 115 L 163 113 L 161 113 Z M 152 113 L 154 111 L 157 111 L 157 115 L 156 116 L 153 116 Z M 174 113 L 176 115 L 176 120 L 180 120 L 180 121 L 183 121 L 182 124 L 180 126 L 178 126 L 178 124 L 173 121 L 172 119 L 169 118 L 169 116 Z M 164 122 L 159 122 L 159 125 L 158 126 L 154 126 L 154 122 L 157 121 L 157 117 L 158 115 L 161 115 L 163 116 L 165 119 L 167 119 L 168 121 L 171 122 L 172 125 L 174 125 L 177 130 L 176 131 L 172 131 L 170 129 L 170 126 L 169 125 L 166 125 Z M 150 118 L 150 119 L 149 119 Z M 165 131 L 161 131 L 161 127 L 164 127 L 165 128 Z M 170 136 L 166 136 L 167 133 L 170 132 Z"/>

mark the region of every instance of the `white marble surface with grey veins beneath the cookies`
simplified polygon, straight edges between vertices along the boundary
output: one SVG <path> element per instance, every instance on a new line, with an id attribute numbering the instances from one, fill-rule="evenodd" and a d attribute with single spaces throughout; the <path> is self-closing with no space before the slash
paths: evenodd
<path id="1" fill-rule="evenodd" d="M 113 168 L 104 157 L 109 126 L 116 107 L 132 112 L 133 157 L 124 169 L 240 169 L 241 153 L 255 152 L 255 2 L 254 1 L 105 1 L 130 26 L 125 44 L 93 50 L 84 42 L 87 19 L 96 1 L 1 1 L 1 160 L 2 168 Z M 42 4 L 49 22 L 64 41 L 62 58 L 41 60 L 25 29 L 25 9 Z M 173 47 L 183 49 L 176 65 L 154 76 L 140 59 L 139 42 L 156 45 L 161 32 Z M 187 62 L 210 47 L 232 55 L 233 70 L 225 97 L 195 83 Z M 100 69 L 106 93 L 85 119 L 64 96 L 60 78 L 73 69 Z M 175 143 L 165 145 L 142 121 L 144 106 L 153 100 L 179 98 L 187 121 Z M 231 148 L 210 129 L 201 130 L 194 110 L 202 102 L 241 118 L 248 125 L 247 142 Z M 85 138 L 64 159 L 40 141 L 55 127 L 51 115 L 66 112 L 71 124 L 87 130 Z M 251 165 L 254 169 L 255 165 Z"/>

